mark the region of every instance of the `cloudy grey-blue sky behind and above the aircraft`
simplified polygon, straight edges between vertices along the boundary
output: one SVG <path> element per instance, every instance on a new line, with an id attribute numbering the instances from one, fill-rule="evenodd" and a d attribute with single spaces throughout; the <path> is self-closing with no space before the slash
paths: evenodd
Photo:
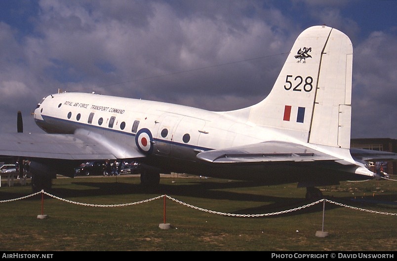
<path id="1" fill-rule="evenodd" d="M 395 0 L 1 0 L 0 131 L 42 132 L 44 96 L 92 92 L 223 111 L 265 98 L 296 39 L 354 45 L 352 138 L 397 138 Z"/>

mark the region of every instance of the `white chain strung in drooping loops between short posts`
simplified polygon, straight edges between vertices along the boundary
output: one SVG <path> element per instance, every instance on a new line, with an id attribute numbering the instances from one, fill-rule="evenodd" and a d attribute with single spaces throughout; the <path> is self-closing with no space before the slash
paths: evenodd
<path id="1" fill-rule="evenodd" d="M 374 211 L 374 210 L 368 210 L 368 209 L 353 207 L 353 206 L 349 206 L 349 205 L 346 205 L 346 204 L 338 203 L 338 202 L 335 202 L 335 201 L 332 201 L 332 200 L 329 200 L 329 199 L 326 199 L 326 198 L 319 199 L 319 200 L 317 200 L 317 201 L 315 201 L 313 203 L 310 203 L 310 204 L 307 204 L 307 205 L 304 205 L 304 206 L 300 206 L 300 207 L 296 207 L 296 208 L 292 208 L 292 209 L 288 209 L 288 210 L 283 210 L 283 211 L 278 211 L 278 212 L 273 212 L 273 213 L 264 213 L 264 214 L 233 214 L 233 213 L 218 212 L 218 211 L 213 211 L 213 210 L 208 210 L 208 209 L 196 207 L 196 206 L 193 206 L 191 204 L 182 202 L 182 201 L 180 201 L 180 200 L 178 200 L 176 198 L 173 198 L 173 197 L 167 196 L 167 195 L 161 195 L 161 196 L 145 199 L 145 200 L 142 200 L 142 201 L 132 202 L 132 203 L 103 205 L 103 204 L 89 204 L 89 203 L 76 202 L 76 201 L 72 201 L 72 200 L 61 198 L 59 196 L 51 195 L 51 194 L 45 192 L 44 190 L 42 190 L 40 192 L 31 194 L 31 195 L 28 195 L 28 196 L 23 196 L 23 197 L 8 199 L 8 200 L 0 200 L 0 203 L 16 201 L 16 200 L 20 200 L 20 199 L 25 199 L 25 198 L 28 198 L 28 197 L 31 197 L 31 196 L 39 195 L 41 193 L 45 194 L 47 196 L 53 197 L 55 199 L 59 199 L 59 200 L 64 201 L 64 202 L 68 202 L 68 203 L 72 203 L 72 204 L 76 204 L 76 205 L 81 205 L 81 206 L 90 206 L 90 207 L 122 207 L 122 206 L 131 206 L 131 205 L 137 205 L 137 204 L 141 204 L 141 203 L 150 202 L 150 201 L 153 201 L 153 200 L 156 200 L 156 199 L 159 199 L 159 198 L 163 198 L 165 196 L 165 197 L 171 199 L 172 201 L 175 201 L 175 202 L 177 202 L 179 204 L 182 204 L 184 206 L 187 206 L 187 207 L 190 207 L 190 208 L 193 208 L 193 209 L 197 209 L 197 210 L 200 210 L 200 211 L 208 212 L 208 213 L 211 213 L 211 214 L 222 215 L 222 216 L 244 217 L 244 218 L 267 217 L 267 216 L 285 214 L 285 213 L 293 212 L 293 211 L 296 211 L 296 210 L 301 210 L 301 209 L 316 205 L 319 202 L 323 202 L 323 201 L 329 202 L 329 203 L 332 203 L 332 204 L 335 204 L 335 205 L 339 205 L 339 206 L 342 206 L 342 207 L 351 208 L 351 209 L 354 209 L 354 210 L 366 211 L 366 212 L 369 212 L 369 213 L 382 214 L 382 215 L 397 216 L 397 213 L 388 213 L 388 212 L 381 212 L 381 211 Z"/>

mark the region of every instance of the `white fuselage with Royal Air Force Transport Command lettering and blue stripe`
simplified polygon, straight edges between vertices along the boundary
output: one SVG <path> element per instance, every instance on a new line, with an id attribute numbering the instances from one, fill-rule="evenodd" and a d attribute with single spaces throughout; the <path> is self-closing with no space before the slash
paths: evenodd
<path id="1" fill-rule="evenodd" d="M 60 93 L 46 97 L 35 110 L 37 125 L 48 133 L 74 134 L 84 130 L 101 142 L 121 144 L 114 150 L 118 159 L 137 159 L 159 168 L 161 173 L 189 173 L 239 180 L 262 180 L 268 184 L 313 181 L 316 173 L 305 164 L 270 163 L 207 164 L 199 152 L 255 144 L 267 140 L 288 140 L 270 128 L 250 125 L 222 112 L 164 102 L 82 93 Z M 333 180 L 333 170 L 329 179 Z M 284 173 L 278 175 L 278 173 Z M 285 174 L 286 173 L 286 174 Z M 322 177 L 322 181 L 327 180 Z"/>

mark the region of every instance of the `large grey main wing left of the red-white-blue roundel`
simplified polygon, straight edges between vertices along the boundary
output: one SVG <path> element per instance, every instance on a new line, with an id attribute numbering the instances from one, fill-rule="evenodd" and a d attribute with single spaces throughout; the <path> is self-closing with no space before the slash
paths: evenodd
<path id="1" fill-rule="evenodd" d="M 1 133 L 0 155 L 63 160 L 144 157 L 137 150 L 123 151 L 101 137 L 87 133 Z"/>

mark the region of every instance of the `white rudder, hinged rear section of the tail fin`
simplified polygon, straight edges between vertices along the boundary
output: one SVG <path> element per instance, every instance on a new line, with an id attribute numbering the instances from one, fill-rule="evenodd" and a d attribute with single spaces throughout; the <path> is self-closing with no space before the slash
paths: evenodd
<path id="1" fill-rule="evenodd" d="M 309 142 L 350 148 L 353 45 L 333 29 L 324 48 Z"/>

